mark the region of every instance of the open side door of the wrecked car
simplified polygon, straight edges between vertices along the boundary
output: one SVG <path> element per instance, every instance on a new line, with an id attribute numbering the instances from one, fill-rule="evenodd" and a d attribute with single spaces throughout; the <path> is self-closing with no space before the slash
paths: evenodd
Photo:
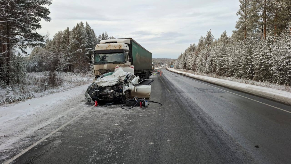
<path id="1" fill-rule="evenodd" d="M 151 90 L 150 84 L 153 81 L 154 80 L 152 80 L 152 79 L 145 79 L 137 84 L 132 84 L 130 97 L 131 98 L 137 97 L 137 98 L 149 99 L 150 98 L 150 90 Z"/>

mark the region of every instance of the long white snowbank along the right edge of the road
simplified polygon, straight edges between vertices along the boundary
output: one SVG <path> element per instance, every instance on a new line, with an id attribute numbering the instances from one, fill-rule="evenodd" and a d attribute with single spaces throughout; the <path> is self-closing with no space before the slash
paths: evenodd
<path id="1" fill-rule="evenodd" d="M 230 88 L 230 89 L 240 90 L 240 91 L 250 93 L 253 95 L 265 97 L 267 99 L 283 102 L 285 104 L 291 104 L 290 92 L 285 92 L 285 91 L 261 87 L 261 86 L 254 86 L 250 84 L 238 83 L 234 81 L 228 81 L 228 80 L 223 80 L 223 79 L 218 79 L 218 78 L 213 78 L 213 77 L 190 74 L 190 73 L 186 73 L 182 71 L 177 71 L 175 69 L 168 68 L 168 67 L 166 69 L 169 71 L 184 75 L 184 76 L 195 78 L 197 80 L 213 83 L 213 84 Z"/>

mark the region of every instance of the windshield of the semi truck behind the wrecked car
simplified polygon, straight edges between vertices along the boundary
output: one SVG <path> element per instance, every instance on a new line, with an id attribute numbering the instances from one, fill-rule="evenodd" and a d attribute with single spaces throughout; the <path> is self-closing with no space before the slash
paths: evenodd
<path id="1" fill-rule="evenodd" d="M 124 62 L 123 53 L 99 53 L 94 57 L 94 63 L 122 63 Z"/>

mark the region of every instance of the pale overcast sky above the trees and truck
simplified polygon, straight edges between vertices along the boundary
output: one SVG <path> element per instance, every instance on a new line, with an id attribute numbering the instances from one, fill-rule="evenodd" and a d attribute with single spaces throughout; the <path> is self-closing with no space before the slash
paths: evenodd
<path id="1" fill-rule="evenodd" d="M 132 37 L 153 58 L 177 58 L 211 29 L 216 39 L 235 29 L 238 0 L 55 0 L 48 7 L 52 21 L 40 24 L 40 34 L 53 37 L 87 21 L 96 35 L 107 31 L 116 38 Z"/>

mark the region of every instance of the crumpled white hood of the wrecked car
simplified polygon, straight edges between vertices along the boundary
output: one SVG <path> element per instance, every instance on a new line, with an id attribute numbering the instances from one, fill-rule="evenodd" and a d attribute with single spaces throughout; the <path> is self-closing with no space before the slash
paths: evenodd
<path id="1" fill-rule="evenodd" d="M 101 87 L 114 86 L 120 83 L 121 81 L 124 81 L 125 77 L 126 73 L 123 71 L 123 69 L 119 68 L 112 75 L 97 79 L 95 83 Z"/>

